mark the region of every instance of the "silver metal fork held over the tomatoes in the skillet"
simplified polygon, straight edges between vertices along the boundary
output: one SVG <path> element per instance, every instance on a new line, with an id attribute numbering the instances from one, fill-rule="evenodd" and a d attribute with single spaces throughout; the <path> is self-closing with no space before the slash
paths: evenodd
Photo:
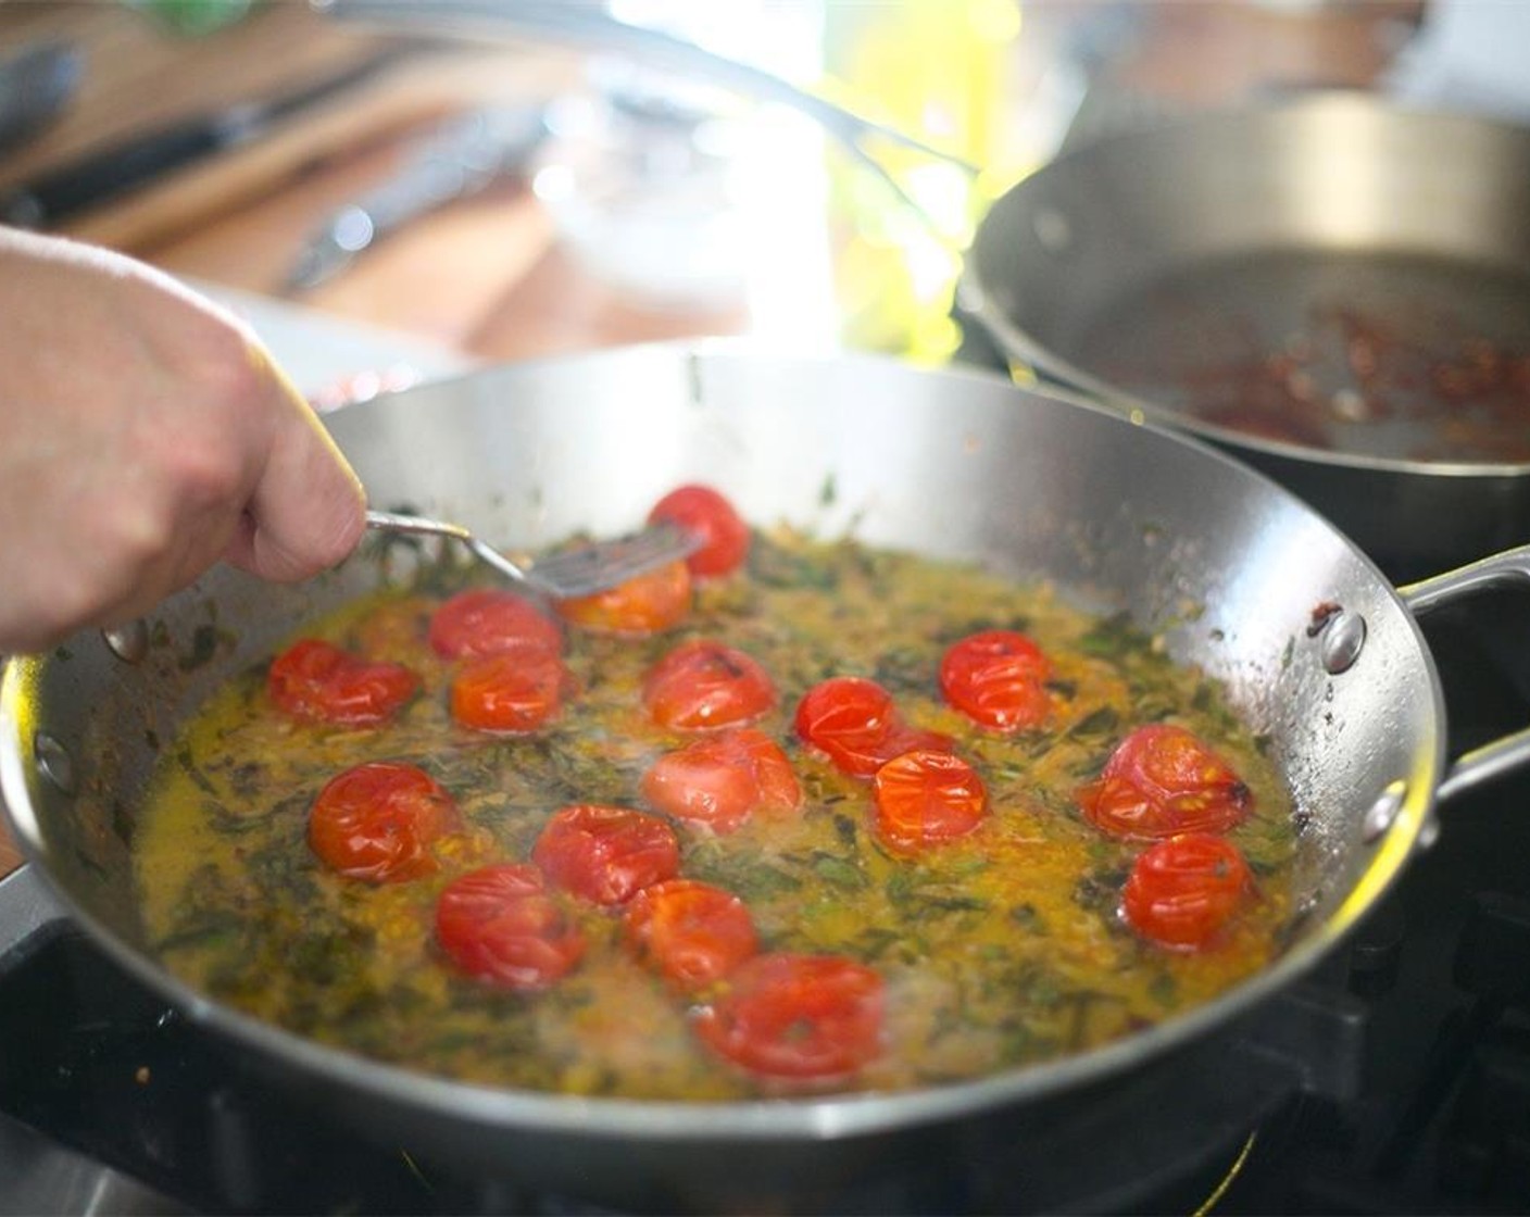
<path id="1" fill-rule="evenodd" d="M 640 533 L 562 550 L 536 562 L 511 562 L 461 524 L 399 511 L 367 511 L 367 527 L 389 533 L 450 537 L 506 579 L 552 600 L 572 600 L 615 588 L 640 574 L 679 562 L 701 548 L 701 537 L 673 524 L 650 524 Z"/>

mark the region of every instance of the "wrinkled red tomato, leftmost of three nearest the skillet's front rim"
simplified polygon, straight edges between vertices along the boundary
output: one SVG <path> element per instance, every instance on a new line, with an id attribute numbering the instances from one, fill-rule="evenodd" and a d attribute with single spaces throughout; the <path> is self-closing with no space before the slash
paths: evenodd
<path id="1" fill-rule="evenodd" d="M 584 955 L 584 935 L 525 862 L 453 879 L 436 902 L 436 941 L 470 977 L 536 992 Z"/>

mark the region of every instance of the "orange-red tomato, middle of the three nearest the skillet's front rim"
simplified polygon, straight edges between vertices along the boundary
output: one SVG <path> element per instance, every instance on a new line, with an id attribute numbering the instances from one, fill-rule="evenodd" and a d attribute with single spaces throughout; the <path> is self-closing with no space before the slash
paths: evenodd
<path id="1" fill-rule="evenodd" d="M 725 977 L 759 945 L 744 902 L 695 879 L 640 891 L 623 915 L 623 932 L 641 963 L 685 992 Z"/>

